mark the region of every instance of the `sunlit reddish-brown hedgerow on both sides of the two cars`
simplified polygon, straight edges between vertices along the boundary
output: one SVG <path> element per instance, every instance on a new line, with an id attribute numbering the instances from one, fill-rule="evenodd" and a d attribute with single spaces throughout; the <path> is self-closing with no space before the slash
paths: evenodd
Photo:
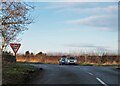
<path id="1" fill-rule="evenodd" d="M 58 64 L 61 56 L 47 55 L 18 55 L 17 62 L 34 62 L 34 63 L 50 63 Z M 120 56 L 77 56 L 78 64 L 85 65 L 118 65 L 120 64 Z"/>

